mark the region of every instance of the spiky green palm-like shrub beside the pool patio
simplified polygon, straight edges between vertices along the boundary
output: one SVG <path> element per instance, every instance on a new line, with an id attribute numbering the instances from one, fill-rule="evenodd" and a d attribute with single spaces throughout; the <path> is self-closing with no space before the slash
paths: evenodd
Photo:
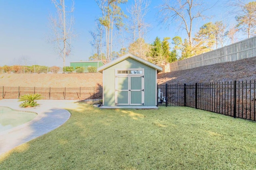
<path id="1" fill-rule="evenodd" d="M 35 100 L 40 100 L 42 98 L 43 97 L 39 94 L 20 96 L 19 101 L 24 101 L 23 103 L 20 104 L 20 107 L 35 107 L 35 106 L 38 106 L 39 104 L 36 103 Z"/>

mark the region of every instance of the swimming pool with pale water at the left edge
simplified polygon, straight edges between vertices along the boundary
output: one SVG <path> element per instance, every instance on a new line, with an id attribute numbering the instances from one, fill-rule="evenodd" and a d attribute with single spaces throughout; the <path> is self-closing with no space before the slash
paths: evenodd
<path id="1" fill-rule="evenodd" d="M 35 112 L 18 111 L 0 106 L 0 132 L 27 123 L 37 116 Z"/>

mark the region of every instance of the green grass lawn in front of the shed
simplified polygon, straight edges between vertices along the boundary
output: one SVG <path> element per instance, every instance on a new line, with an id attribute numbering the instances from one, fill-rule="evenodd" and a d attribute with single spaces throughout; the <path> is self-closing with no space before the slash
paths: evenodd
<path id="1" fill-rule="evenodd" d="M 256 123 L 188 107 L 100 110 L 0 156 L 0 169 L 255 169 Z"/>

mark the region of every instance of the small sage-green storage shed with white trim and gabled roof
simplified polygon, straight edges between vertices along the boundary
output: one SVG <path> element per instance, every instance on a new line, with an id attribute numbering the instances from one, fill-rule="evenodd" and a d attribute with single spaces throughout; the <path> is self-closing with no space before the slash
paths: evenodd
<path id="1" fill-rule="evenodd" d="M 101 109 L 158 109 L 157 73 L 162 67 L 128 53 L 98 71 L 103 73 Z"/>

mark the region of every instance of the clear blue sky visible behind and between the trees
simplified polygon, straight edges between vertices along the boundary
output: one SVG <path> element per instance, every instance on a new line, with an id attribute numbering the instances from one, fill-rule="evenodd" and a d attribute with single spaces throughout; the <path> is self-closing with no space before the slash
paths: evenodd
<path id="1" fill-rule="evenodd" d="M 95 19 L 100 16 L 100 10 L 94 0 L 74 0 L 74 18 L 76 34 L 78 38 L 73 40 L 73 52 L 66 60 L 66 65 L 70 61 L 88 60 L 92 55 L 92 39 L 89 31 L 94 30 Z M 172 23 L 169 28 L 158 23 L 157 12 L 162 0 L 151 0 L 150 11 L 146 16 L 146 22 L 151 27 L 148 31 L 146 42 L 152 43 L 156 36 L 161 40 L 164 37 L 173 38 L 181 36 L 186 38 L 185 32 L 177 30 L 178 23 Z M 198 23 L 194 23 L 194 28 L 198 29 L 206 22 L 226 19 L 226 7 L 223 8 L 222 0 L 204 0 L 208 6 L 217 2 L 214 8 L 205 13 L 213 16 Z M 70 0 L 66 0 L 66 5 Z M 128 15 L 126 8 L 133 3 L 128 0 L 126 5 L 122 5 L 124 13 Z M 54 14 L 55 8 L 50 0 L 0 0 L 0 66 L 14 65 L 22 56 L 27 56 L 30 65 L 62 66 L 62 59 L 54 53 L 46 37 L 50 32 L 48 28 L 49 14 Z M 232 19 L 228 19 L 232 20 Z M 230 23 L 228 23 L 230 24 Z M 114 50 L 119 51 L 121 47 L 115 43 Z"/>

